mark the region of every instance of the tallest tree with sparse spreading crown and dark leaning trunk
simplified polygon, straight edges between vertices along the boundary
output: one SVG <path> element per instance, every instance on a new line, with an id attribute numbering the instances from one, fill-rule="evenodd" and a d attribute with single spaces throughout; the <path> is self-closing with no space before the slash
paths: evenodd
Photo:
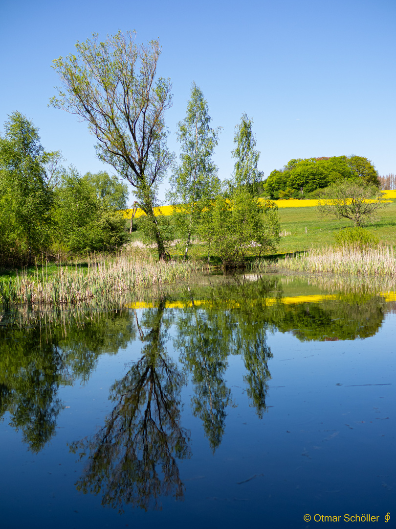
<path id="1" fill-rule="evenodd" d="M 172 162 L 166 147 L 164 114 L 172 104 L 171 82 L 156 76 L 159 42 L 134 43 L 120 31 L 104 42 L 76 43 L 76 54 L 55 59 L 62 88 L 51 99 L 56 108 L 77 114 L 96 136 L 97 154 L 135 188 L 139 206 L 152 223 L 158 256 L 166 258 L 153 207 L 157 187 Z"/>

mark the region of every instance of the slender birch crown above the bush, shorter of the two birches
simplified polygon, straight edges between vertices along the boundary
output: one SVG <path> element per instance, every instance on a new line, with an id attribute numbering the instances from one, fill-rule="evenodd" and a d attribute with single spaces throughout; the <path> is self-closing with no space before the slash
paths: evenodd
<path id="1" fill-rule="evenodd" d="M 258 194 L 263 173 L 257 169 L 260 151 L 256 150 L 256 138 L 252 132 L 253 120 L 242 114 L 241 122 L 235 126 L 232 158 L 235 158 L 231 188 L 246 187 L 253 195 Z"/>

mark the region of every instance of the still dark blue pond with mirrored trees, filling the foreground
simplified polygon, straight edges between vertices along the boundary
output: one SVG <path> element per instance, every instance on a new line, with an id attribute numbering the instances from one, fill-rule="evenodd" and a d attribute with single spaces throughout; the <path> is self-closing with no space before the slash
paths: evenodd
<path id="1" fill-rule="evenodd" d="M 2 315 L 0 527 L 394 527 L 395 300 L 248 276 Z"/>

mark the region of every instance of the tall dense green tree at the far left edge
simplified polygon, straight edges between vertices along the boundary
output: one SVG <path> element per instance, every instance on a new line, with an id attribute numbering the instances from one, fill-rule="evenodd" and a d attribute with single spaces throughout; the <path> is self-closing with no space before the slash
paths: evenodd
<path id="1" fill-rule="evenodd" d="M 0 137 L 0 260 L 34 262 L 48 248 L 53 196 L 45 183 L 45 153 L 38 129 L 20 112 Z"/>

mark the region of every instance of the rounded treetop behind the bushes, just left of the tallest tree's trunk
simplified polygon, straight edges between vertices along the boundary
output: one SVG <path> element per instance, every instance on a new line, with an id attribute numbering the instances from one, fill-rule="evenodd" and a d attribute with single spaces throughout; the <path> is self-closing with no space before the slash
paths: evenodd
<path id="1" fill-rule="evenodd" d="M 83 180 L 95 189 L 96 197 L 103 206 L 114 209 L 126 209 L 128 200 L 128 186 L 122 184 L 114 175 L 106 171 L 96 173 L 87 172 Z"/>

